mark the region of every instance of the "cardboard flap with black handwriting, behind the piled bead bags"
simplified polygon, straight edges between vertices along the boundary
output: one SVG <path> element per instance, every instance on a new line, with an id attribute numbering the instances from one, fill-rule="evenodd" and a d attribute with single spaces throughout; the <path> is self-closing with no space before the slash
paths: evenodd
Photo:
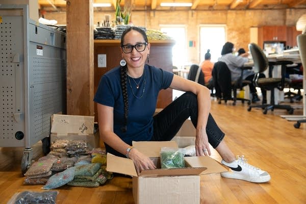
<path id="1" fill-rule="evenodd" d="M 54 114 L 51 126 L 51 133 L 54 134 L 89 135 L 93 134 L 94 116 Z"/>

